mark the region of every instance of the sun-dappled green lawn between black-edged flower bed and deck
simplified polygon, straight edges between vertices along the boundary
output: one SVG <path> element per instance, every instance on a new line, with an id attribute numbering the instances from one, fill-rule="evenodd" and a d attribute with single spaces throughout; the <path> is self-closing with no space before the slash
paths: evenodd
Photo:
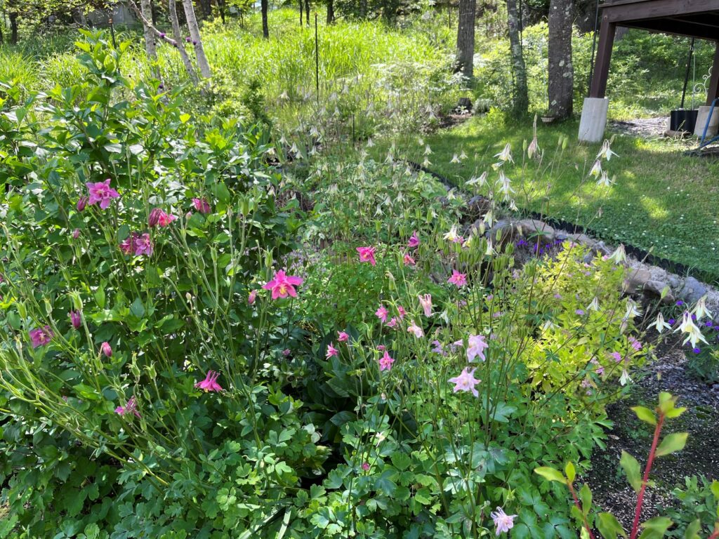
<path id="1" fill-rule="evenodd" d="M 616 175 L 616 184 L 610 190 L 599 188 L 587 175 L 600 144 L 578 144 L 577 128 L 577 121 L 538 126 L 545 152 L 541 166 L 522 159 L 521 149 L 532 137 L 530 121 L 475 117 L 423 137 L 423 142 L 432 151 L 429 169 L 459 186 L 485 170 L 496 178 L 494 155 L 509 142 L 516 164 L 507 175 L 518 192 L 518 206 L 589 226 L 602 239 L 651 249 L 702 277 L 719 280 L 719 160 L 682 155 L 687 143 L 617 135 L 612 149 L 619 157 L 605 167 Z M 560 136 L 568 139 L 564 150 L 558 146 Z M 417 139 L 395 144 L 411 160 L 423 161 L 425 146 Z M 452 163 L 462 151 L 467 159 Z"/>

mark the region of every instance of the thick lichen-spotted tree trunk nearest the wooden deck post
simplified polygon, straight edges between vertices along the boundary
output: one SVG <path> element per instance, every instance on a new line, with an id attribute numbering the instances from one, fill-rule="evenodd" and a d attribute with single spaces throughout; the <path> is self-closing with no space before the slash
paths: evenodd
<path id="1" fill-rule="evenodd" d="M 572 115 L 572 0 L 549 2 L 549 114 Z"/>

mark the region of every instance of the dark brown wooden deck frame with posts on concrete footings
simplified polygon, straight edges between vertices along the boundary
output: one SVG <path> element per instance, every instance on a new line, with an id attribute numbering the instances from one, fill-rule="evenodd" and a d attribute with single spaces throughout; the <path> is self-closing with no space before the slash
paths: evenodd
<path id="1" fill-rule="evenodd" d="M 618 26 L 719 42 L 719 0 L 604 0 L 590 98 L 603 98 Z M 719 98 L 719 46 L 707 91 L 707 105 Z"/>

